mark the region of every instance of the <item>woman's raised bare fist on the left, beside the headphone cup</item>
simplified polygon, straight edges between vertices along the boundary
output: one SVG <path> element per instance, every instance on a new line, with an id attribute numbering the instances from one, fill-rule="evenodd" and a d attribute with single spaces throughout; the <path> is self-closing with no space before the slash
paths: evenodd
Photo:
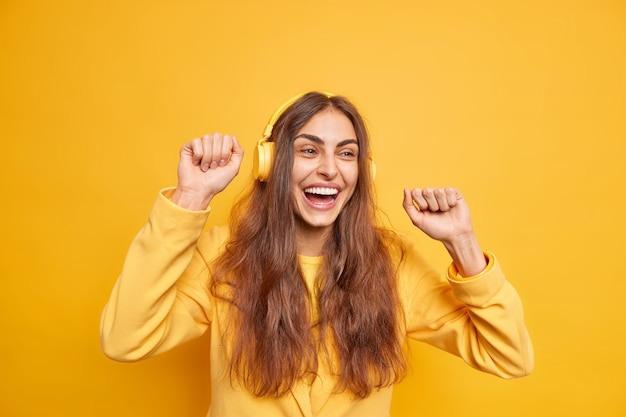
<path id="1" fill-rule="evenodd" d="M 243 149 L 237 138 L 213 133 L 183 145 L 178 185 L 172 201 L 188 210 L 204 210 L 239 173 Z"/>

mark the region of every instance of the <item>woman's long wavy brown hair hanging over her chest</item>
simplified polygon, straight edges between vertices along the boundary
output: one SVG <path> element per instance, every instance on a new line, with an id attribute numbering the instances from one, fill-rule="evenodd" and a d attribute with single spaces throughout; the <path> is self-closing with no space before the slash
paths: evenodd
<path id="1" fill-rule="evenodd" d="M 285 196 L 291 195 L 293 140 L 328 108 L 354 126 L 359 178 L 324 245 L 316 294 L 309 294 L 298 262 L 294 202 Z M 338 379 L 335 391 L 367 397 L 398 382 L 406 360 L 387 248 L 394 239 L 376 223 L 365 123 L 344 97 L 312 92 L 278 118 L 270 140 L 275 155 L 268 181 L 255 181 L 233 207 L 230 240 L 213 264 L 211 292 L 232 307 L 231 377 L 257 396 L 277 397 L 314 375 L 323 353 Z M 318 323 L 312 323 L 311 303 L 318 303 Z"/>

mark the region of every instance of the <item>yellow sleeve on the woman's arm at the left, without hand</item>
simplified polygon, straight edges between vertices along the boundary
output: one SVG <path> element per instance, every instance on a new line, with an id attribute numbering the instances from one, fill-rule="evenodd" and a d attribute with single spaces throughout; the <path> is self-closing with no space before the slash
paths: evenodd
<path id="1" fill-rule="evenodd" d="M 101 316 L 106 356 L 137 361 L 202 335 L 210 325 L 208 258 L 217 254 L 219 229 L 202 239 L 218 241 L 200 253 L 210 209 L 194 212 L 172 203 L 162 191 L 147 224 L 133 240 L 121 274 Z"/>

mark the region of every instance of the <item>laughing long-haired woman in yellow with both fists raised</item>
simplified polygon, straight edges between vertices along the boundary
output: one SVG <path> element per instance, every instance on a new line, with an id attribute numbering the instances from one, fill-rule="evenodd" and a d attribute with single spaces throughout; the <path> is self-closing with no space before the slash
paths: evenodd
<path id="1" fill-rule="evenodd" d="M 203 233 L 243 149 L 221 134 L 183 146 L 178 185 L 160 193 L 103 312 L 105 354 L 139 360 L 210 329 L 209 415 L 220 417 L 389 415 L 406 337 L 501 377 L 528 374 L 521 302 L 478 245 L 460 192 L 404 191 L 413 224 L 452 258 L 441 278 L 377 225 L 354 106 L 314 92 L 285 107 L 268 130 L 267 178 L 230 228 Z"/>

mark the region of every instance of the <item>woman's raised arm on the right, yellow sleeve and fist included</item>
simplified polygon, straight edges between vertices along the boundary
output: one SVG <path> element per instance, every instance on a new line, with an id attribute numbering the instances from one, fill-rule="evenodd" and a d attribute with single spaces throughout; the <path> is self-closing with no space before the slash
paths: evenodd
<path id="1" fill-rule="evenodd" d="M 533 349 L 521 301 L 495 257 L 478 246 L 460 192 L 406 190 L 404 208 L 415 226 L 444 244 L 453 261 L 446 282 L 409 251 L 404 275 L 411 278 L 401 282 L 408 335 L 501 377 L 530 373 Z"/>

